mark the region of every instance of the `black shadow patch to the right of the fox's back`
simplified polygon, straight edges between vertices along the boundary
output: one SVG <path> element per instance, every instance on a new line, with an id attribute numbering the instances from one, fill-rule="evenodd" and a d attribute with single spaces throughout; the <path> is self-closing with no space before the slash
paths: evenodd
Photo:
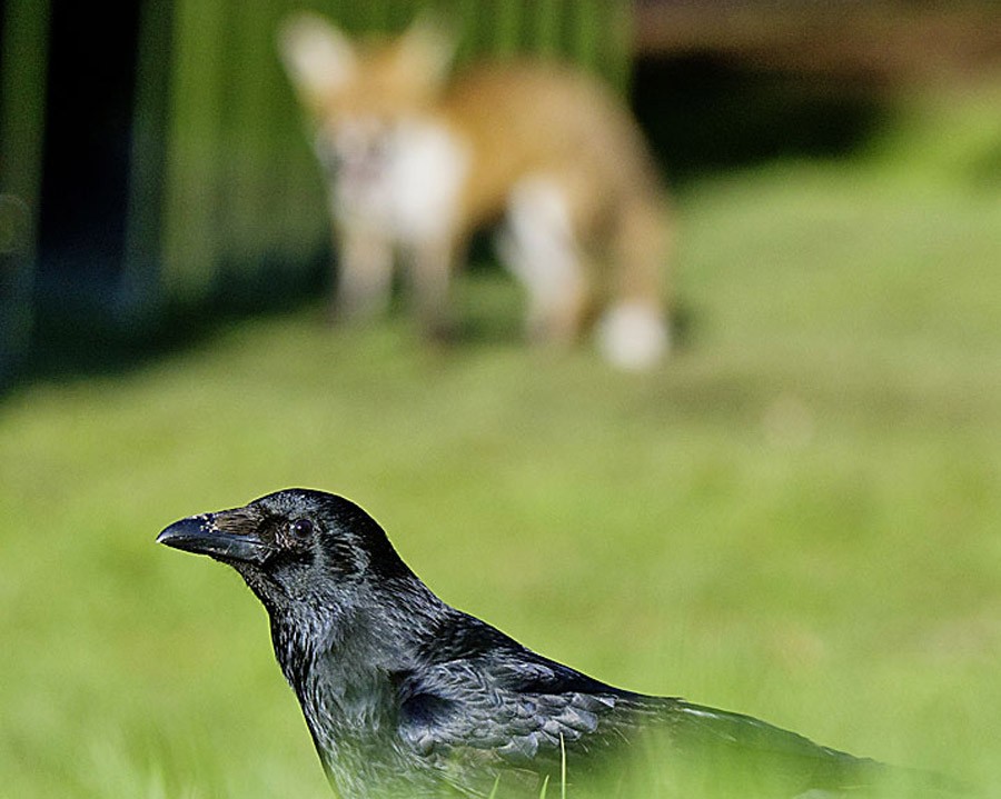
<path id="1" fill-rule="evenodd" d="M 892 111 L 875 87 L 711 53 L 640 60 L 632 104 L 674 187 L 783 158 L 849 156 Z"/>

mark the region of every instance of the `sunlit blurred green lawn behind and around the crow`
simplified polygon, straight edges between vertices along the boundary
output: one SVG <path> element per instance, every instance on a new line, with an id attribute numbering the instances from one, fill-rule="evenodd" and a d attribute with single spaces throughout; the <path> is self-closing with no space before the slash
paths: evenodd
<path id="1" fill-rule="evenodd" d="M 3 792 L 328 796 L 264 610 L 153 545 L 294 485 L 613 683 L 999 785 L 999 107 L 924 100 L 852 161 L 692 187 L 687 333 L 652 374 L 526 351 L 516 290 L 480 271 L 448 353 L 308 309 L 14 390 Z"/>

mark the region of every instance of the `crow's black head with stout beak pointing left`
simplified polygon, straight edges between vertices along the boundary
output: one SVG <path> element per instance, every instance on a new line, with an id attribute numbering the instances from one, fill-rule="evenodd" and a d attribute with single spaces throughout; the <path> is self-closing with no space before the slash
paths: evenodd
<path id="1" fill-rule="evenodd" d="M 361 508 L 307 489 L 181 519 L 157 541 L 229 563 L 269 611 L 412 575 Z"/>

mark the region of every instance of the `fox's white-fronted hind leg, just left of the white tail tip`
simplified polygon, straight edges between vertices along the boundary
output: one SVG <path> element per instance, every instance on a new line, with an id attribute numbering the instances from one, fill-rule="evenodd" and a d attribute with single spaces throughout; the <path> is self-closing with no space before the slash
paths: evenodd
<path id="1" fill-rule="evenodd" d="M 545 177 L 519 181 L 508 199 L 497 243 L 500 258 L 528 292 L 529 338 L 573 343 L 584 323 L 589 291 L 561 186 Z"/>

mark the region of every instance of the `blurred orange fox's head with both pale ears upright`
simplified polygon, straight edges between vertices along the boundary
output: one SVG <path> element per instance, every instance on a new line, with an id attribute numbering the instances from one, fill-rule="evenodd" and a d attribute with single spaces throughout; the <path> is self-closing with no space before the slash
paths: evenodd
<path id="1" fill-rule="evenodd" d="M 400 126 L 434 107 L 455 48 L 429 19 L 394 39 L 356 42 L 324 18 L 300 12 L 281 26 L 278 49 L 316 127 L 320 160 L 341 177 L 364 178 L 385 171 Z"/>

